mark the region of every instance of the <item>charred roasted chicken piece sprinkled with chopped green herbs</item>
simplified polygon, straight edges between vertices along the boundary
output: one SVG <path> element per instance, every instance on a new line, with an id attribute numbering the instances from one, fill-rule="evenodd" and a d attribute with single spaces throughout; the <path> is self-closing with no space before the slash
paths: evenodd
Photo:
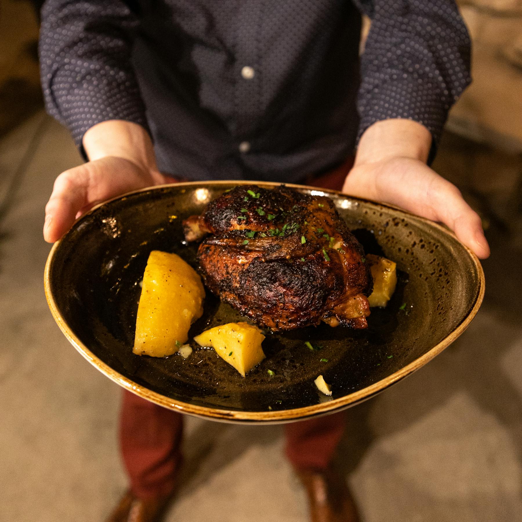
<path id="1" fill-rule="evenodd" d="M 330 198 L 243 185 L 183 226 L 187 241 L 211 234 L 198 249 L 207 287 L 257 324 L 366 328 L 371 272 Z"/>

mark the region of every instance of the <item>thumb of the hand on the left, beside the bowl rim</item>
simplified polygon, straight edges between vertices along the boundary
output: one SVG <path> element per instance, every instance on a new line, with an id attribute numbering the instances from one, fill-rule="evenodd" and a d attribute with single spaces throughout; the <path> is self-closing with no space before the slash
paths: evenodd
<path id="1" fill-rule="evenodd" d="M 87 201 L 88 175 L 82 166 L 60 174 L 54 182 L 53 192 L 45 206 L 43 237 L 54 243 L 69 230 L 77 212 Z"/>

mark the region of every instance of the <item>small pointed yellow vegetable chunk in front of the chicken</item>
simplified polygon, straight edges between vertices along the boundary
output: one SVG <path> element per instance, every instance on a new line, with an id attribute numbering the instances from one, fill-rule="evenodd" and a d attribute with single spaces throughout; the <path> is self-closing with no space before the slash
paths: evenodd
<path id="1" fill-rule="evenodd" d="M 265 358 L 261 348 L 264 339 L 261 330 L 248 323 L 216 326 L 194 337 L 198 345 L 215 349 L 243 377 Z"/>

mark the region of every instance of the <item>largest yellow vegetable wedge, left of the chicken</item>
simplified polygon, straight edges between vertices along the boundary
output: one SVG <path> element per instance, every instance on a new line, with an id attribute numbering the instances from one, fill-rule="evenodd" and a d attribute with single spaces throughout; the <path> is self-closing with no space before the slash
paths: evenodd
<path id="1" fill-rule="evenodd" d="M 165 357 L 188 340 L 203 314 L 205 289 L 197 272 L 176 254 L 153 250 L 145 268 L 133 352 Z"/>

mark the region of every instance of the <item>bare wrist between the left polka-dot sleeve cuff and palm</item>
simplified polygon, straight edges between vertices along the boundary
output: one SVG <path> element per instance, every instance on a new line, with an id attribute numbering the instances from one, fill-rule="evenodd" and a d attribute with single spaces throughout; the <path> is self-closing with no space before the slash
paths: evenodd
<path id="1" fill-rule="evenodd" d="M 123 158 L 141 169 L 156 171 L 152 140 L 144 127 L 124 120 L 108 120 L 92 126 L 82 144 L 89 161 Z"/>

